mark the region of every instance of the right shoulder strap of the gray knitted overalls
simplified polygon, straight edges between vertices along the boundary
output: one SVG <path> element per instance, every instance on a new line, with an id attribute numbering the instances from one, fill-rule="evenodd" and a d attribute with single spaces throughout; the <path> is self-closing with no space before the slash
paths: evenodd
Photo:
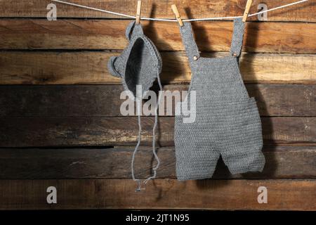
<path id="1" fill-rule="evenodd" d="M 242 18 L 234 20 L 234 31 L 232 33 L 232 45 L 230 46 L 230 53 L 232 56 L 238 57 L 242 52 L 242 41 L 244 39 L 244 22 Z"/>

